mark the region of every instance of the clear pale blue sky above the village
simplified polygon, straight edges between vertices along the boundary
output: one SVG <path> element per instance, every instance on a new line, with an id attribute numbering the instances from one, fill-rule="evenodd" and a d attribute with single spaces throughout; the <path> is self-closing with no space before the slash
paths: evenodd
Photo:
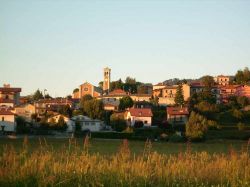
<path id="1" fill-rule="evenodd" d="M 85 81 L 233 75 L 250 66 L 250 1 L 0 0 L 0 85 L 66 96 Z"/>

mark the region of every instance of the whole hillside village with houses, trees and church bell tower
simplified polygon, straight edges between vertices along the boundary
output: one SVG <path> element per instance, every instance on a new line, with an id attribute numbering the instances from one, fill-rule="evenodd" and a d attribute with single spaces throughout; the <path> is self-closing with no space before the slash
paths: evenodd
<path id="1" fill-rule="evenodd" d="M 20 96 L 22 89 L 0 88 L 0 132 L 33 135 L 91 134 L 104 138 L 203 140 L 250 137 L 250 72 L 171 79 L 156 85 L 127 77 L 84 82 L 65 98 L 47 90 Z M 47 92 L 47 93 L 46 93 Z"/>

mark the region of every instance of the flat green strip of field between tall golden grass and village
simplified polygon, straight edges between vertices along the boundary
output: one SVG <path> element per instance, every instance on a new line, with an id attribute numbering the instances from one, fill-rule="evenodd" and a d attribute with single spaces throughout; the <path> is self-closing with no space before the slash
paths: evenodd
<path id="1" fill-rule="evenodd" d="M 20 139 L 0 139 L 0 152 L 5 146 L 13 146 L 16 150 L 22 149 L 24 138 Z M 74 139 L 79 147 L 83 147 L 83 139 Z M 69 146 L 69 139 L 66 138 L 30 138 L 28 139 L 29 150 L 34 151 L 40 144 L 47 144 L 50 149 L 61 151 Z M 90 139 L 89 153 L 99 153 L 101 155 L 115 154 L 119 150 L 122 140 Z M 188 145 L 193 152 L 206 151 L 212 153 L 228 153 L 231 149 L 241 151 L 247 145 L 247 141 L 239 140 L 210 140 L 205 143 L 191 143 Z M 129 141 L 131 153 L 140 154 L 145 146 L 144 141 Z M 152 151 L 160 154 L 178 154 L 187 149 L 187 143 L 152 142 Z"/>

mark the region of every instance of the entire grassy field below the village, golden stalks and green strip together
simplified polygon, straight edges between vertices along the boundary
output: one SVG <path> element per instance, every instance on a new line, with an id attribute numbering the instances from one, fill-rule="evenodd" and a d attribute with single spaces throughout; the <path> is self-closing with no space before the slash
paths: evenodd
<path id="1" fill-rule="evenodd" d="M 0 139 L 0 186 L 250 186 L 250 142 Z"/>

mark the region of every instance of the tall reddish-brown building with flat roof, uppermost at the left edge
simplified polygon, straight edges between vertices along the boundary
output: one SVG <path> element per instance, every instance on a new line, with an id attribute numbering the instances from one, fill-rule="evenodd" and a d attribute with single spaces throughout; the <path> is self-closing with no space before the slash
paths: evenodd
<path id="1" fill-rule="evenodd" d="M 15 107 L 20 103 L 21 88 L 10 87 L 10 84 L 4 84 L 0 87 L 0 106 Z"/>

